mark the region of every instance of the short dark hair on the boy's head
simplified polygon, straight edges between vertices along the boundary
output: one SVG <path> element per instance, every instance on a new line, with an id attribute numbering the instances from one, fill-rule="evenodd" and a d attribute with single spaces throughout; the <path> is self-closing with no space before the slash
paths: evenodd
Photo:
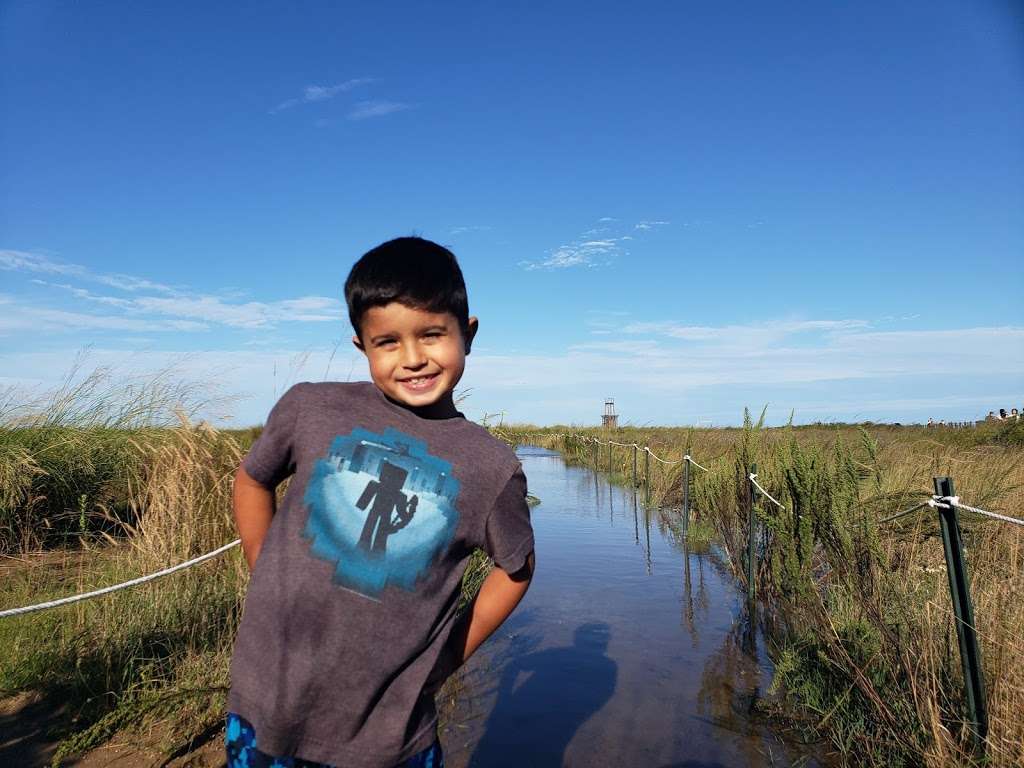
<path id="1" fill-rule="evenodd" d="M 466 283 L 455 254 L 424 238 L 395 238 L 367 251 L 345 281 L 348 319 L 355 335 L 368 309 L 392 301 L 428 312 L 451 312 L 469 333 Z"/>

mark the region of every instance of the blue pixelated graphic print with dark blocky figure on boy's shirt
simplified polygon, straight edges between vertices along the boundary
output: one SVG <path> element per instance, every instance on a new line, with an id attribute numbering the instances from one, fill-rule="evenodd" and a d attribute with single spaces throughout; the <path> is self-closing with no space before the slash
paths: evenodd
<path id="1" fill-rule="evenodd" d="M 411 591 L 452 541 L 458 496 L 452 465 L 423 440 L 356 428 L 316 460 L 303 535 L 316 557 L 335 563 L 337 584 L 370 597 L 388 585 Z"/>

